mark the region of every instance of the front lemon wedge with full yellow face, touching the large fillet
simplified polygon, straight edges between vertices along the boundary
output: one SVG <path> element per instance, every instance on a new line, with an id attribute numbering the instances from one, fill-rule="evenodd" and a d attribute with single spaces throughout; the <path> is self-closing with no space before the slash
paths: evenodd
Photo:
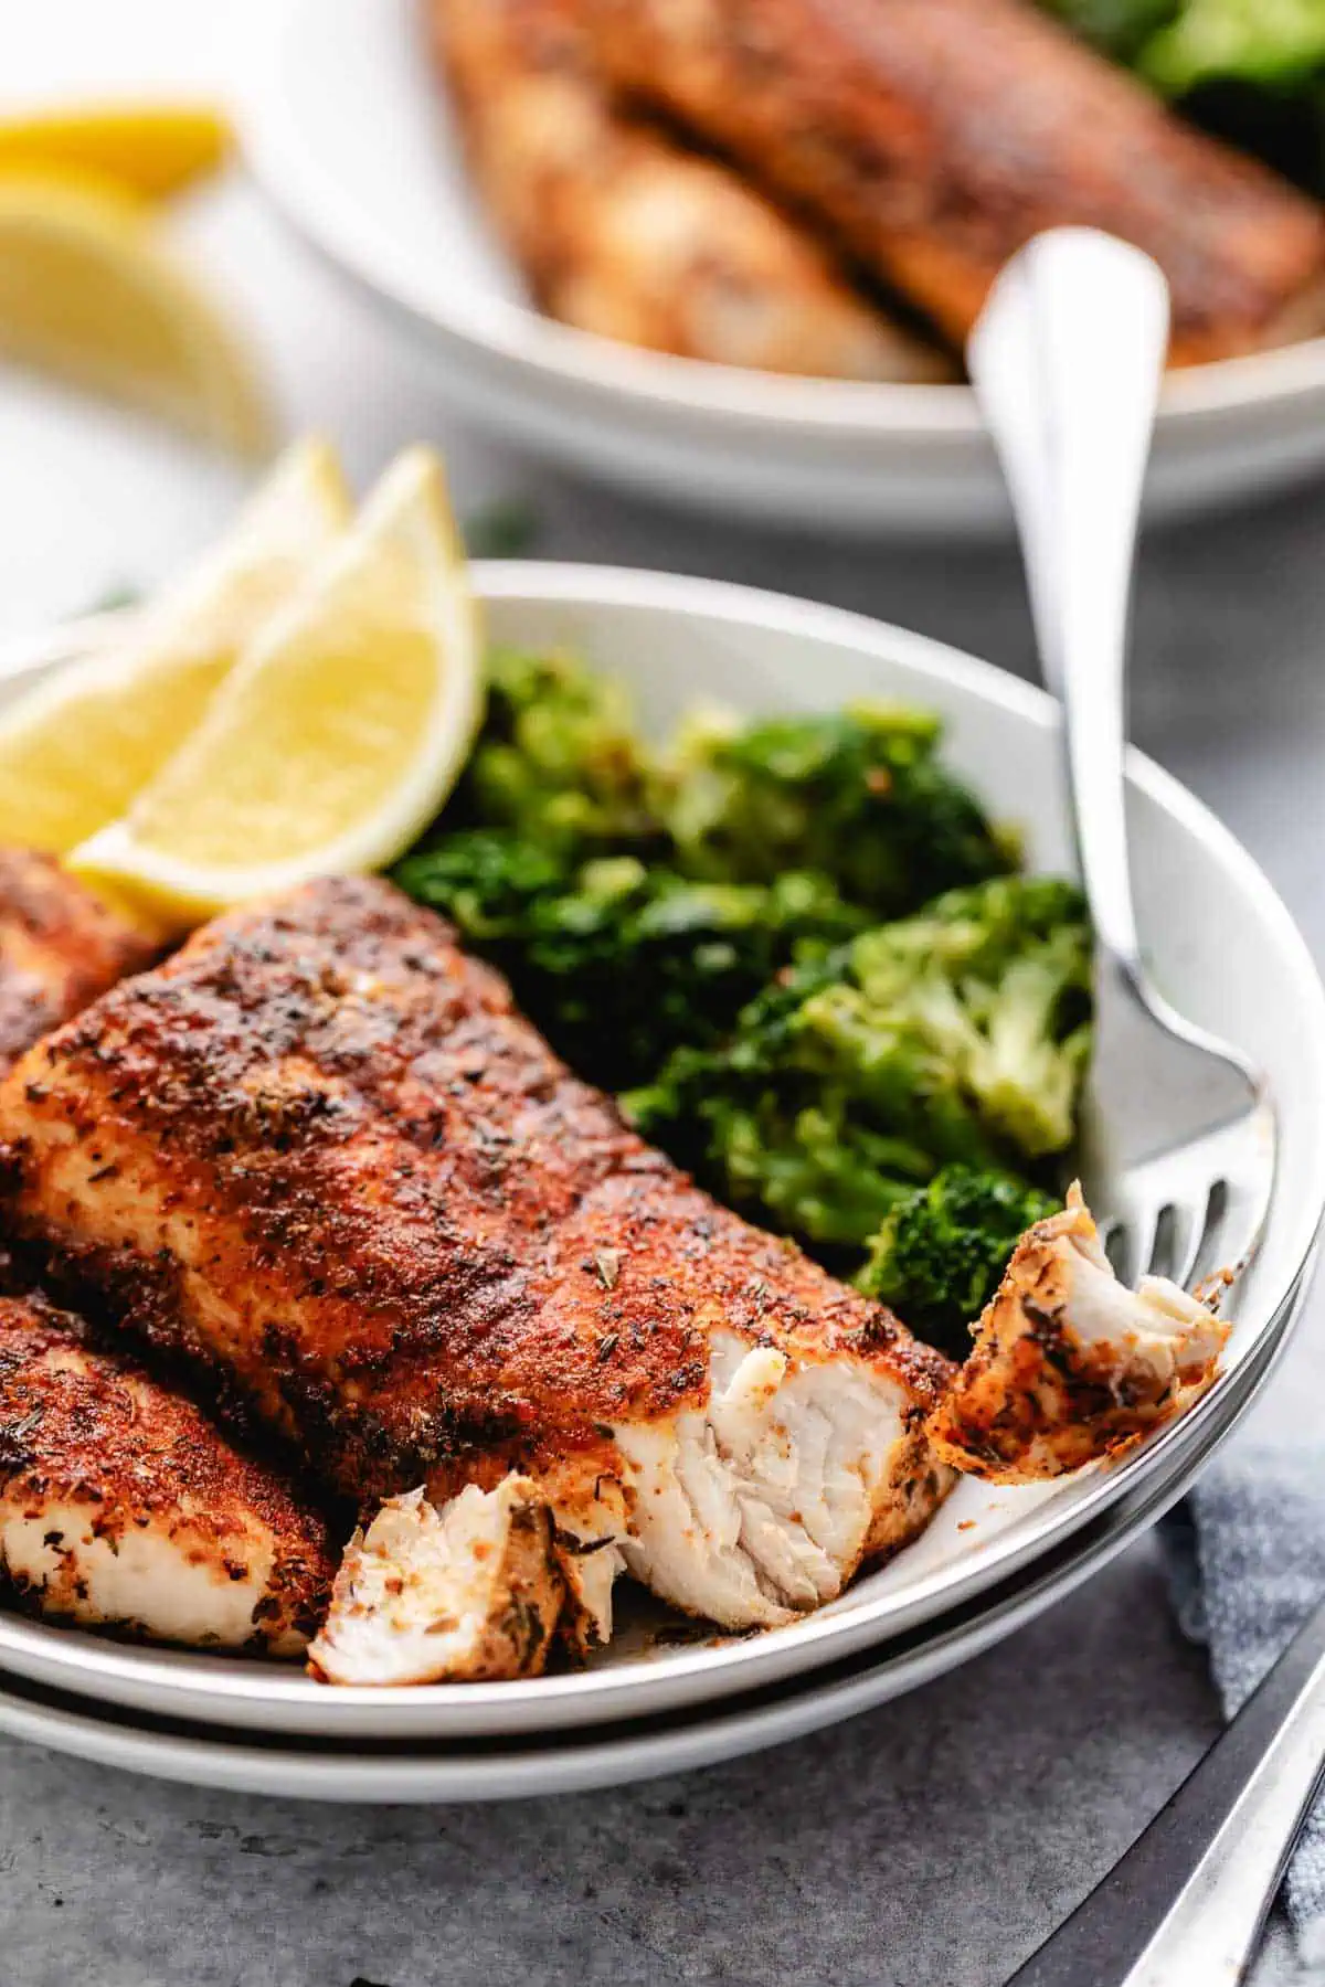
<path id="1" fill-rule="evenodd" d="M 443 469 L 411 449 L 127 819 L 70 868 L 177 930 L 312 876 L 381 868 L 445 801 L 481 715 L 479 620 Z"/>

